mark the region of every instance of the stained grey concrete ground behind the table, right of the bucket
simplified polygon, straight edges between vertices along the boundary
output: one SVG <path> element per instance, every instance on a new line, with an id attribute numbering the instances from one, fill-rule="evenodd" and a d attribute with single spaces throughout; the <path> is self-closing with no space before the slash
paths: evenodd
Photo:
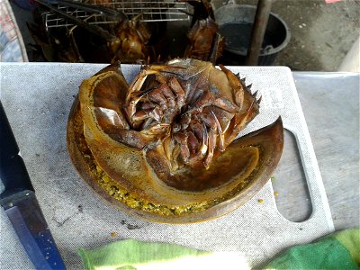
<path id="1" fill-rule="evenodd" d="M 13 1 L 13 0 L 11 0 Z M 215 6 L 226 0 L 212 0 Z M 257 0 L 237 0 L 237 4 L 257 4 Z M 25 45 L 33 43 L 26 22 L 31 12 L 11 2 Z M 336 71 L 359 36 L 360 1 L 275 0 L 272 12 L 284 19 L 291 40 L 276 57 L 275 65 L 297 71 Z M 31 56 L 30 56 L 31 58 Z"/>

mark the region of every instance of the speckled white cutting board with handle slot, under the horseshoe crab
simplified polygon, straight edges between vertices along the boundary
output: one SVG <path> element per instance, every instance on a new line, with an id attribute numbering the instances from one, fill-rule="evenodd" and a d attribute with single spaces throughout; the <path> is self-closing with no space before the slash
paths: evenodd
<path id="1" fill-rule="evenodd" d="M 92 248 L 124 238 L 160 241 L 210 251 L 236 251 L 249 266 L 261 266 L 286 247 L 309 243 L 334 230 L 311 137 L 302 114 L 291 70 L 287 67 L 230 67 L 247 77 L 263 95 L 260 114 L 247 131 L 281 115 L 295 138 L 312 210 L 302 222 L 277 211 L 271 182 L 238 210 L 217 220 L 189 225 L 157 224 L 118 211 L 76 174 L 66 147 L 67 115 L 81 81 L 104 65 L 0 64 L 1 101 L 21 148 L 41 209 L 68 269 L 81 268 L 79 247 Z M 132 78 L 139 67 L 122 67 Z M 286 137 L 285 137 L 286 139 Z M 286 142 L 285 142 L 286 143 Z M 296 155 L 295 155 L 296 156 Z M 290 158 L 289 158 L 290 159 Z M 284 174 L 293 160 L 282 158 L 275 173 Z M 279 194 L 281 197 L 282 193 Z M 259 199 L 264 202 L 258 202 Z M 284 203 L 283 203 L 284 204 Z M 287 211 L 293 211 L 288 208 Z M 1 268 L 28 269 L 31 264 L 1 214 Z M 112 237 L 112 232 L 116 233 Z"/>

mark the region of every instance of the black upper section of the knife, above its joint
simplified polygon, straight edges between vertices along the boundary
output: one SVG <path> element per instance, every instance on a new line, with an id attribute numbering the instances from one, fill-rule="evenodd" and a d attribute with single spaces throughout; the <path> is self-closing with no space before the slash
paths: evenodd
<path id="1" fill-rule="evenodd" d="M 19 148 L 13 130 L 7 120 L 3 104 L 0 101 L 0 179 L 4 192 L 0 199 L 25 190 L 33 191 L 31 180 L 19 155 Z"/>

